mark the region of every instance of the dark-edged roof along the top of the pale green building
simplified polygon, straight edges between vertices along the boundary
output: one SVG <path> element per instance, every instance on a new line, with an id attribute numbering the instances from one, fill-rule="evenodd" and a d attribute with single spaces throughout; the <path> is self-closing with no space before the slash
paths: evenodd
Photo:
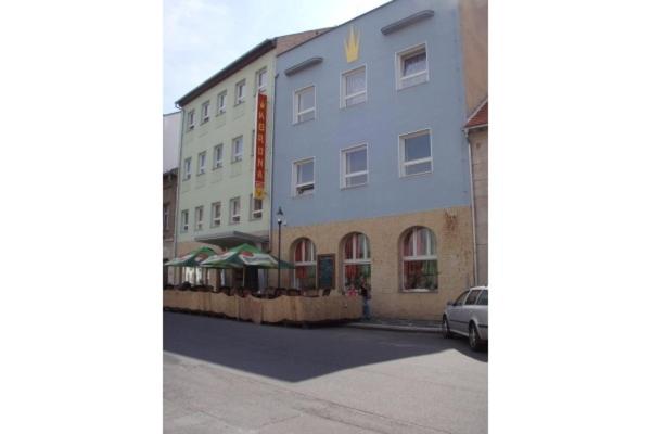
<path id="1" fill-rule="evenodd" d="M 176 102 L 176 104 L 181 107 L 183 105 L 187 105 L 188 103 L 190 103 L 192 100 L 194 100 L 195 98 L 197 98 L 205 91 L 215 87 L 220 81 L 224 81 L 226 78 L 235 74 L 238 71 L 242 69 L 243 67 L 255 62 L 256 60 L 258 60 L 263 55 L 267 54 L 269 51 L 273 50 L 275 48 L 278 48 L 278 50 L 277 50 L 278 53 L 285 52 L 288 50 L 291 50 L 295 46 L 301 44 L 322 33 L 327 31 L 328 29 L 329 29 L 329 27 L 326 27 L 326 28 L 319 28 L 316 30 L 307 30 L 307 31 L 301 31 L 297 34 L 278 36 L 272 39 L 265 39 L 264 41 L 261 41 L 260 43 L 258 43 L 257 46 L 255 46 L 254 48 L 252 48 L 251 50 L 248 50 L 247 52 L 242 54 L 240 58 L 235 59 L 233 62 L 231 62 L 229 65 L 227 65 L 224 69 L 219 71 L 217 74 L 213 75 L 210 78 L 208 78 L 207 80 L 205 80 L 204 82 L 202 82 L 201 85 L 199 85 L 197 87 L 192 89 L 190 92 L 188 92 L 183 97 L 179 98 L 179 100 Z"/>

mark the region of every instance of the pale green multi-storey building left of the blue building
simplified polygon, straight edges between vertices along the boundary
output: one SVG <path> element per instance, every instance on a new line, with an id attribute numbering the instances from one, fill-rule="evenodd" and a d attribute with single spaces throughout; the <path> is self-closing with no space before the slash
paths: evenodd
<path id="1" fill-rule="evenodd" d="M 182 133 L 175 256 L 202 245 L 217 252 L 244 242 L 268 247 L 276 55 L 320 31 L 267 39 L 177 101 Z M 259 93 L 267 95 L 265 186 L 263 197 L 255 199 L 254 135 Z M 205 275 L 194 276 L 193 269 L 183 272 L 176 272 L 174 280 L 206 279 Z M 208 280 L 218 284 L 215 276 Z"/>

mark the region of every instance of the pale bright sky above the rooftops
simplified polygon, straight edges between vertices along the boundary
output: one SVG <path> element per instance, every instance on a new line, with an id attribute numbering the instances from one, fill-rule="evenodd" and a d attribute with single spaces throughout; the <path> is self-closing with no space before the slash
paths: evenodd
<path id="1" fill-rule="evenodd" d="M 331 27 L 387 0 L 164 0 L 163 113 L 267 38 Z"/>

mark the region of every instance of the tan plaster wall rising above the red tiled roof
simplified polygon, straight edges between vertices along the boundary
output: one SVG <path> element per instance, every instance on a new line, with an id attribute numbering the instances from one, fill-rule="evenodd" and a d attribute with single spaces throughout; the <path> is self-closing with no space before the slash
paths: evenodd
<path id="1" fill-rule="evenodd" d="M 460 0 L 465 113 L 488 95 L 488 0 Z"/>

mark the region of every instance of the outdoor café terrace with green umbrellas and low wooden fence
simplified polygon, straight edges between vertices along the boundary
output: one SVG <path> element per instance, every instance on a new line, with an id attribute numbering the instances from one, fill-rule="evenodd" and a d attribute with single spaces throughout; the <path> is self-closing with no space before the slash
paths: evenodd
<path id="1" fill-rule="evenodd" d="M 247 244 L 239 245 L 222 254 L 202 247 L 173 259 L 169 267 L 201 267 L 204 269 L 290 269 L 292 264 L 281 261 Z M 333 295 L 330 289 L 301 290 L 297 288 L 213 286 L 200 281 L 167 284 L 163 292 L 166 309 L 225 316 L 255 323 L 315 323 L 354 320 L 361 317 L 361 297 L 358 295 Z"/>

